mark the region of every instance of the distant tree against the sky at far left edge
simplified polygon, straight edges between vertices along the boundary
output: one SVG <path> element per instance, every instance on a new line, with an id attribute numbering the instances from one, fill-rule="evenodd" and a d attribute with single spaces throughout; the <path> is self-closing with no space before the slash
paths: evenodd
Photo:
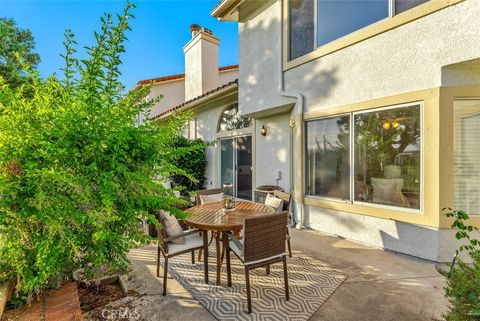
<path id="1" fill-rule="evenodd" d="M 35 69 L 40 56 L 33 52 L 35 40 L 30 30 L 20 29 L 13 19 L 0 17 L 0 76 L 16 88 L 28 79 L 27 69 Z"/>

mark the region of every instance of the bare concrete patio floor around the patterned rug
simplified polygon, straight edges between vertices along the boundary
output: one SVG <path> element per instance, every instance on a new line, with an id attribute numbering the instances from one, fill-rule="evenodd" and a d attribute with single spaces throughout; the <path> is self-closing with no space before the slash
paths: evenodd
<path id="1" fill-rule="evenodd" d="M 293 255 L 302 251 L 348 276 L 310 320 L 443 319 L 448 302 L 443 296 L 444 278 L 436 271 L 435 264 L 311 230 L 292 230 L 291 235 Z M 135 320 L 216 320 L 172 278 L 168 280 L 168 295 L 161 295 L 162 280 L 155 277 L 155 255 L 153 246 L 130 255 L 133 272 L 127 285 L 138 291 L 140 297 L 126 297 L 100 309 L 128 309 L 140 316 Z M 86 320 L 102 319 L 101 311 L 86 317 Z"/>

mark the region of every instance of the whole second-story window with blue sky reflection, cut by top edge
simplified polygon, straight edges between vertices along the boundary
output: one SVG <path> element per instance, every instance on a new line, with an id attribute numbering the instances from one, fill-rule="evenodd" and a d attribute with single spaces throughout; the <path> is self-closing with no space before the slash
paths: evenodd
<path id="1" fill-rule="evenodd" d="M 429 0 L 290 0 L 290 60 Z"/>

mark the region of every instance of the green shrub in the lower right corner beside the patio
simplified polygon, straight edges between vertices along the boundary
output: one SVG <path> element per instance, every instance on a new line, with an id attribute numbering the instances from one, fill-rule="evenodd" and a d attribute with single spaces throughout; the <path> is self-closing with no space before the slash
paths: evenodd
<path id="1" fill-rule="evenodd" d="M 445 318 L 447 321 L 480 320 L 480 241 L 470 235 L 478 229 L 466 224 L 469 216 L 464 211 L 446 210 L 445 215 L 455 219 L 452 228 L 457 230 L 456 238 L 467 241 L 459 251 L 467 251 L 472 263 L 458 259 L 446 275 L 445 295 L 451 306 Z"/>

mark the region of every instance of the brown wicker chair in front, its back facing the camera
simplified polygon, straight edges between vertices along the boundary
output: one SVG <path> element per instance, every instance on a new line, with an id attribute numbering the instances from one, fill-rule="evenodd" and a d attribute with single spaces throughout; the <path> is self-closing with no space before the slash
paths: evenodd
<path id="1" fill-rule="evenodd" d="M 288 212 L 246 218 L 243 228 L 243 241 L 240 241 L 231 233 L 226 233 L 228 239 L 225 239 L 224 242 L 227 256 L 227 284 L 229 287 L 232 286 L 230 266 L 230 251 L 232 251 L 245 266 L 248 313 L 252 313 L 249 274 L 252 269 L 283 262 L 285 298 L 287 301 L 290 299 L 287 253 L 285 252 L 287 220 Z"/>

